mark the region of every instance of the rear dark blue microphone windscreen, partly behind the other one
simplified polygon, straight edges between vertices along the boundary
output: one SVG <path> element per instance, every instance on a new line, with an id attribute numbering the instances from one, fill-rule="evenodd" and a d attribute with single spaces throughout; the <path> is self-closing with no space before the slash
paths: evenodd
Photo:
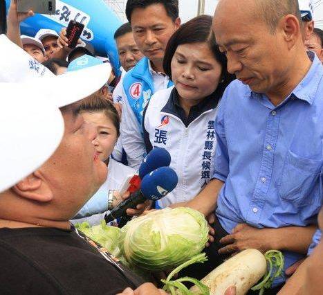
<path id="1" fill-rule="evenodd" d="M 169 166 L 171 157 L 169 152 L 163 147 L 155 147 L 151 150 L 139 168 L 139 177 L 143 179 L 145 175 L 149 174 L 151 171 L 154 171 L 160 167 Z"/>

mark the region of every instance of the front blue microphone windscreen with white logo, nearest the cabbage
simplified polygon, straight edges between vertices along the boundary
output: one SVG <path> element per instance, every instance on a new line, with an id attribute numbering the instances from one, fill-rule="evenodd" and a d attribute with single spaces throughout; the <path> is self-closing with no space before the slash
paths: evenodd
<path id="1" fill-rule="evenodd" d="M 160 167 L 150 172 L 141 181 L 141 193 L 152 201 L 165 197 L 178 183 L 176 172 L 169 167 Z"/>

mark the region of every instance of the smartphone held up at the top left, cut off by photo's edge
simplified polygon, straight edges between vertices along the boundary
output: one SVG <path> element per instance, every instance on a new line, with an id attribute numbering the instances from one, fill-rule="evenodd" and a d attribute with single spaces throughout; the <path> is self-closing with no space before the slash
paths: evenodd
<path id="1" fill-rule="evenodd" d="M 29 10 L 42 15 L 55 15 L 56 0 L 17 0 L 18 12 L 28 12 Z"/>

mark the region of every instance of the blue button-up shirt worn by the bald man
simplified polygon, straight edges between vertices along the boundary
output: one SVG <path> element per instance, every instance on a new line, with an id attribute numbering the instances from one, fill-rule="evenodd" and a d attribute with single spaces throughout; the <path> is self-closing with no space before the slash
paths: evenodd
<path id="1" fill-rule="evenodd" d="M 225 181 L 216 216 L 229 233 L 239 223 L 316 223 L 323 198 L 323 66 L 311 57 L 304 79 L 278 106 L 239 80 L 223 94 L 214 178 Z M 302 258 L 284 256 L 286 267 Z"/>

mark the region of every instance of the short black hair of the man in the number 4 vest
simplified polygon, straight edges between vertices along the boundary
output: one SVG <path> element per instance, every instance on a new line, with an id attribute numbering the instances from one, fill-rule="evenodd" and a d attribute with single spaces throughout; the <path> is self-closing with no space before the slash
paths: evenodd
<path id="1" fill-rule="evenodd" d="M 131 22 L 131 14 L 136 8 L 146 8 L 153 4 L 162 4 L 167 15 L 175 21 L 178 18 L 178 0 L 128 0 L 126 5 L 126 15 Z"/>

